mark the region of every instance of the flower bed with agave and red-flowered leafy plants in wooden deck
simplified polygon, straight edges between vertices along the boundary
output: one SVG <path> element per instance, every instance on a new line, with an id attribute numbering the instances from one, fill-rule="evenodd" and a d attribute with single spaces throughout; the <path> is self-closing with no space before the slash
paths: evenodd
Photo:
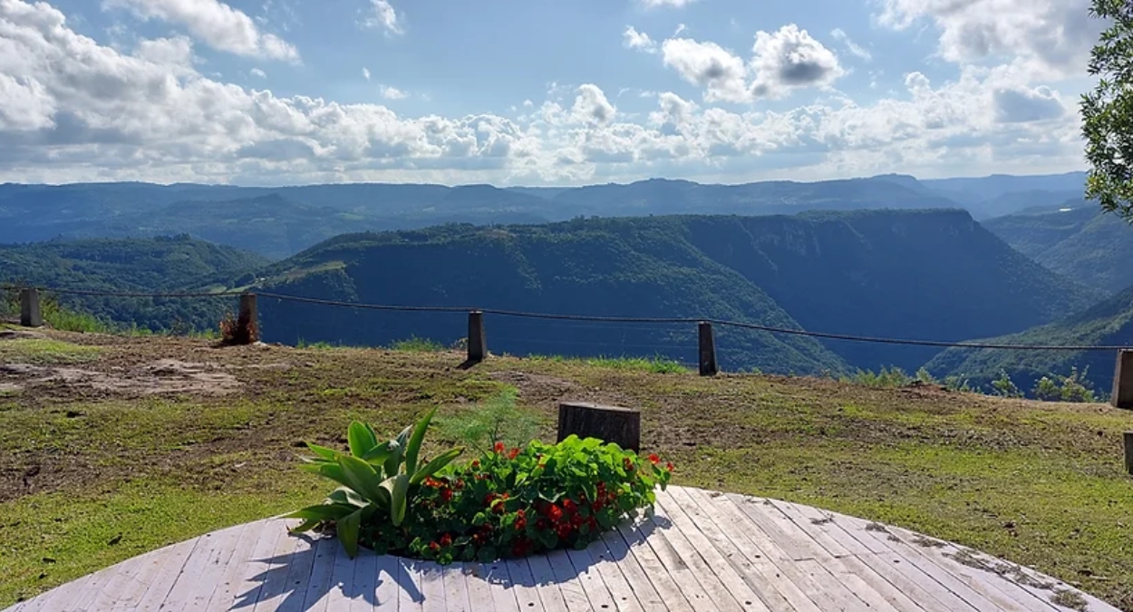
<path id="1" fill-rule="evenodd" d="M 582 549 L 602 532 L 651 508 L 673 465 L 616 444 L 569 436 L 557 444 L 502 442 L 465 464 L 453 449 L 419 466 L 434 411 L 387 442 L 352 423 L 349 452 L 315 444 L 306 469 L 340 485 L 317 505 L 291 515 L 295 530 L 333 527 L 348 554 L 378 553 L 449 563 Z"/>

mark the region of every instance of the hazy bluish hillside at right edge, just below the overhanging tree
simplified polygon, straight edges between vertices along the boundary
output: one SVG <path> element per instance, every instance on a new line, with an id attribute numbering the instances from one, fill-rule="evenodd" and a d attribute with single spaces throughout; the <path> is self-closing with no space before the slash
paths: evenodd
<path id="1" fill-rule="evenodd" d="M 1071 199 L 983 226 L 1050 270 L 1108 295 L 1133 284 L 1133 228 L 1096 202 Z"/>

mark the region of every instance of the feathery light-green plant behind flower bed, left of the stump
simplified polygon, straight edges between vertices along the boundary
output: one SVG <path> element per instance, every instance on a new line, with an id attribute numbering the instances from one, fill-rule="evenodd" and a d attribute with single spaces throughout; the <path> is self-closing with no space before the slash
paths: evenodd
<path id="1" fill-rule="evenodd" d="M 509 386 L 472 408 L 441 417 L 436 423 L 437 434 L 480 452 L 486 452 L 496 442 L 519 447 L 536 436 L 540 419 L 535 413 L 516 406 L 517 394 L 516 388 Z"/>

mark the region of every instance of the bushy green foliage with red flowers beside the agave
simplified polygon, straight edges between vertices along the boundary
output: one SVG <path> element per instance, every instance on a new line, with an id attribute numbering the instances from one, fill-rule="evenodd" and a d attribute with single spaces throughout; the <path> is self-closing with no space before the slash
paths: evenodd
<path id="1" fill-rule="evenodd" d="M 378 553 L 440 563 L 491 562 L 555 549 L 585 549 L 603 532 L 651 507 L 672 464 L 571 435 L 489 451 L 426 479 L 402 529 L 364 529 Z"/>

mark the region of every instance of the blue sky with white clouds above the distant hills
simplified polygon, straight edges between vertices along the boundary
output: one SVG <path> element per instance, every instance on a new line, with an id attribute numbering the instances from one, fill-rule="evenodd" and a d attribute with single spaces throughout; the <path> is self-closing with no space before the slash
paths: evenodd
<path id="1" fill-rule="evenodd" d="M 1083 168 L 1087 0 L 0 0 L 0 180 Z"/>

